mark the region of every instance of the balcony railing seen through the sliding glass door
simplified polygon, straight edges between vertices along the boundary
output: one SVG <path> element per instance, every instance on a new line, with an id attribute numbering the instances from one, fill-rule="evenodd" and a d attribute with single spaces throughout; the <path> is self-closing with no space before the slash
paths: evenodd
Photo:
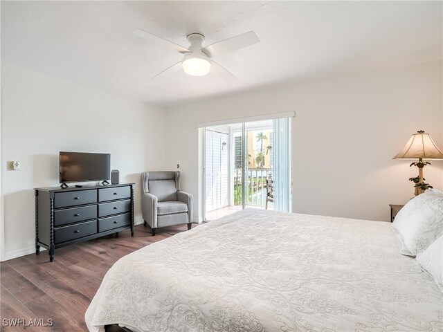
<path id="1" fill-rule="evenodd" d="M 242 175 L 241 168 L 234 169 L 234 205 L 242 205 Z M 246 169 L 247 199 L 246 205 L 264 206 L 266 204 L 266 179 L 272 177 L 271 168 Z"/>

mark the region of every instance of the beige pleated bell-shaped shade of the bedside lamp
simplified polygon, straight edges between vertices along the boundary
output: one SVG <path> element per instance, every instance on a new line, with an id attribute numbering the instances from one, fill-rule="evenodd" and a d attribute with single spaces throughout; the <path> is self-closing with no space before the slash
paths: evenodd
<path id="1" fill-rule="evenodd" d="M 443 159 L 443 153 L 435 145 L 431 135 L 420 130 L 410 136 L 408 142 L 392 159 Z"/>

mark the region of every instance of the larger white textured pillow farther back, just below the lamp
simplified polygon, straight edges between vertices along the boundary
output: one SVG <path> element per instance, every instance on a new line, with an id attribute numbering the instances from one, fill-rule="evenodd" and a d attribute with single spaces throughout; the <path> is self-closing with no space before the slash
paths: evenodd
<path id="1" fill-rule="evenodd" d="M 397 213 L 392 226 L 410 254 L 419 255 L 443 234 L 443 195 L 426 190 L 411 199 Z"/>

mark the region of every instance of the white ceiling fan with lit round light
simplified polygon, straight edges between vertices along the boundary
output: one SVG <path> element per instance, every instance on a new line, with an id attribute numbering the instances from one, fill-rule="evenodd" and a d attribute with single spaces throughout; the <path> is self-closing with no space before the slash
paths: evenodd
<path id="1" fill-rule="evenodd" d="M 180 62 L 173 64 L 164 71 L 161 71 L 152 77 L 152 79 L 163 73 L 178 71 L 179 69 L 183 68 L 183 71 L 185 71 L 185 73 L 188 75 L 203 76 L 210 72 L 211 74 L 217 75 L 228 82 L 232 82 L 233 80 L 237 80 L 237 77 L 226 70 L 226 68 L 215 62 L 213 57 L 219 57 L 220 55 L 225 55 L 226 53 L 230 53 L 235 50 L 239 50 L 240 48 L 260 42 L 257 35 L 255 35 L 253 31 L 249 31 L 248 33 L 230 37 L 222 40 L 221 42 L 203 47 L 205 36 L 201 33 L 191 33 L 188 35 L 190 46 L 189 48 L 185 48 L 179 44 L 170 42 L 167 39 L 153 35 L 152 33 L 147 33 L 145 30 L 134 30 L 132 31 L 132 34 L 143 39 L 147 39 L 150 42 L 163 44 L 164 46 L 183 54 L 183 59 Z"/>

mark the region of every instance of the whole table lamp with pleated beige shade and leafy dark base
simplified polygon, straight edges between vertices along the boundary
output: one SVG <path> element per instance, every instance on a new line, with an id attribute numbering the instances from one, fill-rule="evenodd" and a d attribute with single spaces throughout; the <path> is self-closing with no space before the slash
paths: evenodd
<path id="1" fill-rule="evenodd" d="M 426 190 L 429 186 L 427 183 L 424 183 L 423 178 L 423 167 L 426 165 L 431 165 L 427 161 L 423 161 L 423 159 L 443 159 L 443 153 L 440 149 L 435 145 L 434 141 L 431 138 L 431 135 L 425 133 L 423 130 L 417 131 L 417 133 L 413 133 L 410 136 L 408 142 L 404 146 L 401 151 L 395 155 L 392 159 L 415 159 L 418 158 L 418 162 L 414 162 L 409 166 L 417 166 L 418 167 L 418 178 L 410 178 L 410 180 L 415 180 L 415 196 L 422 194 L 424 190 Z"/>

